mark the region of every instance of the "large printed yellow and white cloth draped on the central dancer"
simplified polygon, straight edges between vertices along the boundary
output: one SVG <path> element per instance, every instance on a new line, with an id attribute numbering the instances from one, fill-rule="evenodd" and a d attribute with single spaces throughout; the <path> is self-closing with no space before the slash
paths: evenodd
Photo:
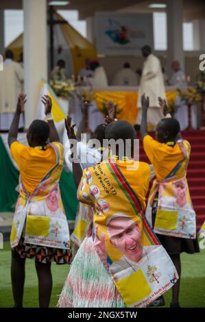
<path id="1" fill-rule="evenodd" d="M 131 175 L 138 185 L 136 190 L 140 186 L 147 190 L 149 165 L 139 163 L 137 170 L 136 162 L 129 164 L 129 169 L 134 166 Z M 114 159 L 85 169 L 77 195 L 95 207 L 95 249 L 126 306 L 145 307 L 177 282 L 178 273 L 143 217 L 143 201 L 123 173 L 123 166 Z"/>

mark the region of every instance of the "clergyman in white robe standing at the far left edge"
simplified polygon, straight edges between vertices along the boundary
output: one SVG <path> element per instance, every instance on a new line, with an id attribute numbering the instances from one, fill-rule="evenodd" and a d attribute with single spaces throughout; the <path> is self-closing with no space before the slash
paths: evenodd
<path id="1" fill-rule="evenodd" d="M 7 131 L 12 123 L 18 95 L 23 91 L 23 68 L 14 62 L 12 51 L 5 53 L 3 71 L 0 73 L 0 130 Z M 23 115 L 19 122 L 23 127 Z"/>

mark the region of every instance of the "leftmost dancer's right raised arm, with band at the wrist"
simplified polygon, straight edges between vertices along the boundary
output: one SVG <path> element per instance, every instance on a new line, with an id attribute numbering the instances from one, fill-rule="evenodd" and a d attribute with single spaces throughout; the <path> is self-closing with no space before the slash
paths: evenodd
<path id="1" fill-rule="evenodd" d="M 60 138 L 59 138 L 55 123 L 53 122 L 53 117 L 51 115 L 51 110 L 52 110 L 51 97 L 49 97 L 49 95 L 44 95 L 41 98 L 41 101 L 45 105 L 45 115 L 46 115 L 45 120 L 49 123 L 49 127 L 50 127 L 49 140 L 51 142 L 60 142 Z"/>

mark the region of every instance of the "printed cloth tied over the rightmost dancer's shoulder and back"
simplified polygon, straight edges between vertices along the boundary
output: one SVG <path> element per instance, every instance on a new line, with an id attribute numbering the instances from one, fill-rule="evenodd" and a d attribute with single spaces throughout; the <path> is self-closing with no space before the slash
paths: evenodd
<path id="1" fill-rule="evenodd" d="M 162 182 L 158 182 L 157 179 L 154 181 L 147 203 L 146 218 L 152 225 L 152 205 L 158 191 L 158 209 L 154 232 L 167 236 L 195 238 L 195 211 L 185 177 L 191 147 L 186 140 L 178 141 L 177 144 L 180 146 L 184 158 L 182 157 L 182 160 L 176 164 Z"/>

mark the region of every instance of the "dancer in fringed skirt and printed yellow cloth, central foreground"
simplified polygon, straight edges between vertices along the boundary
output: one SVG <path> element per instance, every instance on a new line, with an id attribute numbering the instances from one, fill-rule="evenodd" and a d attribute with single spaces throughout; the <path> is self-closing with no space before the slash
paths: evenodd
<path id="1" fill-rule="evenodd" d="M 73 136 L 69 117 L 66 125 Z M 178 279 L 143 218 L 151 171 L 149 164 L 133 158 L 134 127 L 114 121 L 106 127 L 106 138 L 117 143 L 116 157 L 83 172 L 77 197 L 95 208 L 93 233 L 71 264 L 60 307 L 145 307 Z M 74 175 L 77 167 L 73 164 Z"/>

